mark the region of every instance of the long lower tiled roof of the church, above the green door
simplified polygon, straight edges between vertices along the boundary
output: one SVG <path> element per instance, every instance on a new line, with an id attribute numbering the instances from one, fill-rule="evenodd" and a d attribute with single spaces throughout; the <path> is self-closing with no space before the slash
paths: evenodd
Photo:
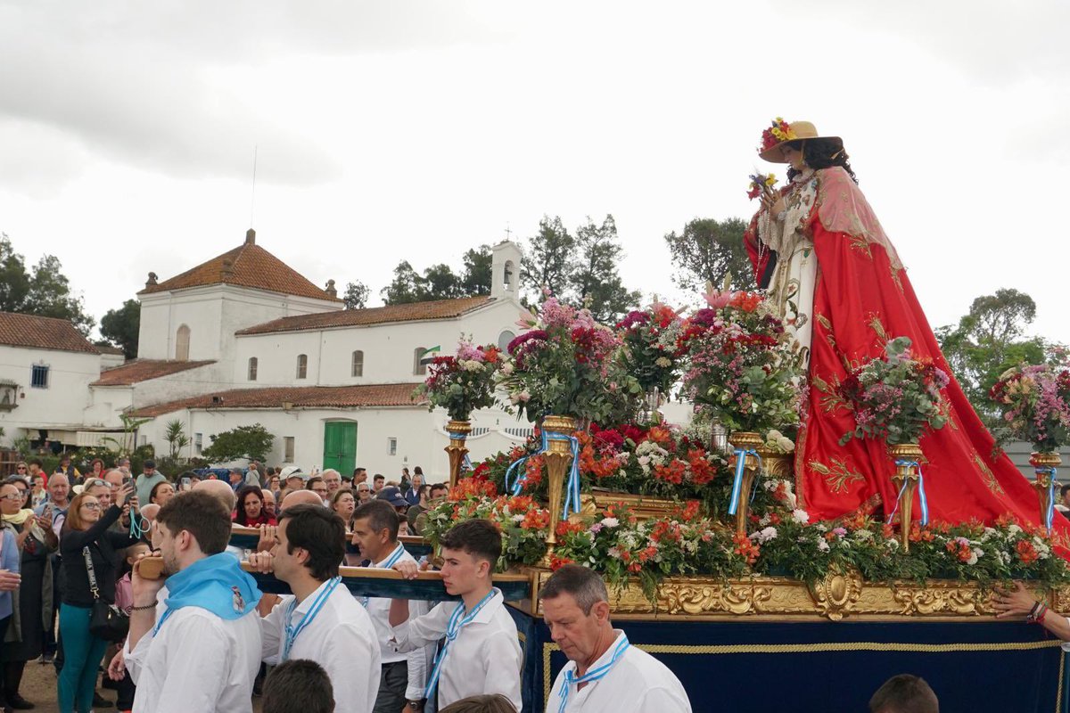
<path id="1" fill-rule="evenodd" d="M 184 408 L 281 408 L 284 402 L 294 408 L 368 408 L 377 406 L 415 406 L 418 384 L 373 384 L 368 386 L 281 386 L 263 389 L 233 389 L 204 393 L 188 399 L 144 406 L 134 416 L 152 418 Z"/>

